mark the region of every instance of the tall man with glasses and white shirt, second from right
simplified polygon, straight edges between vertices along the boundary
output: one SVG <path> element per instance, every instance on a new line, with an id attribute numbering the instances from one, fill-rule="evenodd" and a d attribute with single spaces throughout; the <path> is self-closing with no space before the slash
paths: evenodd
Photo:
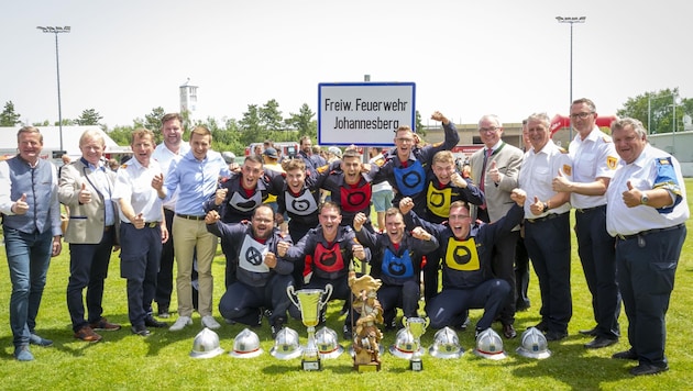
<path id="1" fill-rule="evenodd" d="M 618 342 L 620 293 L 616 283 L 615 242 L 606 232 L 606 189 L 618 166 L 612 137 L 596 125 L 594 102 L 582 98 L 570 107 L 570 121 L 578 131 L 568 152 L 573 160 L 572 180 L 558 172 L 553 190 L 570 192 L 575 208 L 578 255 L 592 293 L 596 326 L 580 334 L 594 337 L 585 348 L 600 349 Z"/>

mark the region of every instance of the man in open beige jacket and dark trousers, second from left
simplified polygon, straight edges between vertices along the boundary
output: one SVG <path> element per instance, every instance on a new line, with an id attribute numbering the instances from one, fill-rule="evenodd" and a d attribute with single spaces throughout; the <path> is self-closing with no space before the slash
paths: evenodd
<path id="1" fill-rule="evenodd" d="M 99 131 L 88 130 L 79 137 L 81 158 L 61 170 L 58 199 L 69 208 L 65 242 L 69 243 L 67 309 L 75 338 L 99 342 L 95 331 L 117 331 L 119 324 L 101 316 L 103 280 L 108 276 L 111 249 L 118 245 L 118 209 L 111 200 L 116 172 L 102 160 L 106 142 Z M 88 319 L 85 319 L 82 290 L 87 288 Z"/>

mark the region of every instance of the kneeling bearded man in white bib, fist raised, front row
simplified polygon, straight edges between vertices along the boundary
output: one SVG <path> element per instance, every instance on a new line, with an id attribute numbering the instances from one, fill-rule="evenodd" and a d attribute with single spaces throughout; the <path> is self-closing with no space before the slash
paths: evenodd
<path id="1" fill-rule="evenodd" d="M 219 312 L 228 321 L 258 326 L 262 310 L 270 310 L 272 337 L 276 337 L 287 321 L 290 300 L 286 289 L 293 284 L 294 264 L 284 259 L 290 239 L 283 238 L 275 228 L 274 211 L 261 204 L 250 223 L 235 224 L 222 223 L 219 213 L 210 211 L 205 223 L 209 232 L 221 237 L 222 244 L 235 244 L 235 278 L 219 301 Z"/>

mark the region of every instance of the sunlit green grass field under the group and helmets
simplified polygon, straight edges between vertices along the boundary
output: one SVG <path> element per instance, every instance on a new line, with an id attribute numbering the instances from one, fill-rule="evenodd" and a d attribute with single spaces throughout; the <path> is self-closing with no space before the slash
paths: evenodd
<path id="1" fill-rule="evenodd" d="M 693 180 L 686 180 L 688 193 L 693 194 Z M 691 200 L 689 204 L 691 205 Z M 689 222 L 689 230 L 693 226 Z M 6 253 L 0 250 L 0 260 L 6 264 Z M 32 346 L 35 360 L 19 362 L 12 357 L 12 334 L 9 326 L 9 301 L 11 284 L 8 269 L 0 267 L 0 389 L 243 389 L 243 390 L 452 390 L 452 389 L 518 389 L 518 390 L 682 390 L 693 382 L 693 244 L 686 242 L 676 271 L 676 282 L 668 313 L 667 354 L 671 369 L 651 377 L 634 378 L 628 375 L 631 361 L 614 360 L 610 355 L 628 348 L 627 337 L 610 347 L 587 350 L 583 344 L 588 337 L 578 329 L 590 328 L 592 321 L 591 297 L 576 255 L 573 241 L 572 293 L 574 314 L 569 326 L 570 336 L 560 343 L 550 343 L 553 355 L 546 360 L 524 358 L 515 353 L 519 338 L 504 340 L 509 357 L 492 361 L 474 356 L 473 332 L 458 333 L 465 354 L 460 359 L 441 360 L 428 354 L 424 356 L 425 370 L 411 372 L 408 361 L 389 353 L 383 356 L 380 372 L 356 373 L 352 371 L 351 358 L 342 354 L 337 359 L 324 360 L 320 372 L 302 372 L 300 359 L 282 361 L 268 351 L 273 346 L 266 324 L 255 329 L 262 342 L 263 355 L 254 359 L 238 359 L 227 354 L 212 359 L 193 359 L 188 356 L 193 338 L 200 331 L 200 320 L 194 316 L 195 325 L 183 332 L 152 329 L 147 338 L 130 333 L 125 298 L 125 281 L 120 278 L 119 258 L 111 259 L 110 276 L 106 282 L 103 300 L 105 315 L 110 321 L 123 324 L 119 332 L 102 333 L 103 340 L 87 344 L 73 338 L 69 315 L 65 303 L 69 252 L 54 258 L 37 320 L 37 333 L 55 342 L 53 347 Z M 222 292 L 223 257 L 215 259 L 217 277 L 215 303 Z M 519 333 L 539 321 L 539 292 L 536 276 L 530 282 L 532 306 L 517 314 L 516 328 Z M 172 309 L 175 304 L 172 305 Z M 343 319 L 338 319 L 341 303 L 329 306 L 328 325 L 340 331 Z M 221 317 L 215 308 L 215 315 Z M 481 312 L 472 311 L 472 321 Z M 175 315 L 173 317 L 175 320 Z M 622 314 L 622 331 L 627 329 L 627 320 Z M 170 323 L 170 320 L 169 320 Z M 298 331 L 301 342 L 306 340 L 306 328 L 297 321 L 289 326 Z M 494 325 L 499 332 L 499 324 Z M 221 347 L 227 351 L 233 347 L 233 337 L 243 328 L 222 322 L 218 334 Z M 341 336 L 341 333 L 339 333 Z M 435 331 L 428 331 L 422 343 L 432 343 Z M 394 333 L 386 333 L 386 347 L 394 342 Z M 348 345 L 341 340 L 346 348 Z"/>

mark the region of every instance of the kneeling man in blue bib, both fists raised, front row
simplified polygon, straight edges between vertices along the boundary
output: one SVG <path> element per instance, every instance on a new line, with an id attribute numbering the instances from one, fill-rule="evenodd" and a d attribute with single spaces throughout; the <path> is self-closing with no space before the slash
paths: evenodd
<path id="1" fill-rule="evenodd" d="M 394 329 L 397 308 L 402 308 L 405 317 L 418 316 L 421 256 L 435 252 L 438 239 L 418 226 L 405 232 L 404 217 L 397 208 L 385 212 L 385 233 L 362 230 L 366 219 L 363 213 L 356 214 L 353 226 L 359 243 L 372 253 L 384 248 L 382 259 L 371 260 L 371 275 L 383 281 L 377 299 L 383 306 L 385 329 Z"/>

